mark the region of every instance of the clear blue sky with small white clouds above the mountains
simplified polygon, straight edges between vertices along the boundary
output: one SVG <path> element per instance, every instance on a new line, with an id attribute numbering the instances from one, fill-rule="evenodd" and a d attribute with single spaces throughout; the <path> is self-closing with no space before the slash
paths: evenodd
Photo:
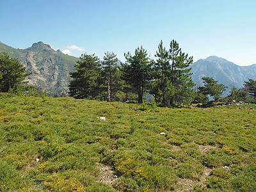
<path id="1" fill-rule="evenodd" d="M 143 46 L 154 59 L 163 40 L 177 40 L 194 61 L 216 55 L 237 65 L 256 63 L 255 0 L 1 0 L 0 41 L 26 49 L 42 41 L 81 56 Z"/>

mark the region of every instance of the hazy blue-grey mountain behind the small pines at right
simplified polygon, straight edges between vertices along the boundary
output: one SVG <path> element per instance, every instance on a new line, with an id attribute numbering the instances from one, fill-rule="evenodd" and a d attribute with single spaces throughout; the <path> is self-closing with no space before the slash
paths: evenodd
<path id="1" fill-rule="evenodd" d="M 223 58 L 217 56 L 209 56 L 204 60 L 198 60 L 190 65 L 191 76 L 196 86 L 203 86 L 202 77 L 212 77 L 220 84 L 228 86 L 228 90 L 232 86 L 236 88 L 243 87 L 244 81 L 248 78 L 256 79 L 256 65 L 239 66 Z M 226 93 L 227 93 L 226 92 Z"/>

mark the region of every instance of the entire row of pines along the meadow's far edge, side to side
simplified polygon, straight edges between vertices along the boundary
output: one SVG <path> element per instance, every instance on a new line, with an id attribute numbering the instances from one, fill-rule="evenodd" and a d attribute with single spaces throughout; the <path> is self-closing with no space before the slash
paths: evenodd
<path id="1" fill-rule="evenodd" d="M 124 53 L 125 63 L 118 65 L 116 54 L 105 52 L 103 61 L 95 54 L 82 54 L 76 61 L 75 72 L 70 72 L 72 80 L 68 94 L 76 99 L 99 99 L 111 101 L 136 100 L 143 103 L 148 93 L 159 106 L 175 107 L 191 102 L 244 100 L 256 103 L 256 81 L 244 81 L 244 88 L 232 88 L 230 94 L 221 97 L 226 86 L 218 84 L 212 77 L 202 77 L 204 86 L 195 89 L 191 79 L 193 57 L 182 52 L 179 44 L 172 40 L 166 49 L 163 41 L 158 45 L 156 61 L 150 59 L 141 46 L 134 54 Z M 12 92 L 28 87 L 29 73 L 16 58 L 6 52 L 0 53 L 0 92 Z"/>

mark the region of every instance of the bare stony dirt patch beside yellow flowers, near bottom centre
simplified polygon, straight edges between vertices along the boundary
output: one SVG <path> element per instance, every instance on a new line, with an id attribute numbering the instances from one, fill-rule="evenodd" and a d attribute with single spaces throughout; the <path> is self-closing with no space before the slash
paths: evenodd
<path id="1" fill-rule="evenodd" d="M 115 182 L 115 180 L 117 179 L 117 176 L 114 174 L 114 171 L 111 170 L 111 167 L 104 164 L 96 164 L 98 164 L 98 166 L 100 167 L 100 177 L 97 182 L 104 182 L 106 184 L 112 185 L 113 182 Z"/>

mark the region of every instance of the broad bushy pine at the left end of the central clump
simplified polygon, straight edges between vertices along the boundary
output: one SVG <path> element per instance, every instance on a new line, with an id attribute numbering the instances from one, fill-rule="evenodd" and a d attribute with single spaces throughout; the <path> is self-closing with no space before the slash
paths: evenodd
<path id="1" fill-rule="evenodd" d="M 102 78 L 99 58 L 95 54 L 85 53 L 76 62 L 76 72 L 70 72 L 73 79 L 69 84 L 69 95 L 76 99 L 101 99 Z"/>

